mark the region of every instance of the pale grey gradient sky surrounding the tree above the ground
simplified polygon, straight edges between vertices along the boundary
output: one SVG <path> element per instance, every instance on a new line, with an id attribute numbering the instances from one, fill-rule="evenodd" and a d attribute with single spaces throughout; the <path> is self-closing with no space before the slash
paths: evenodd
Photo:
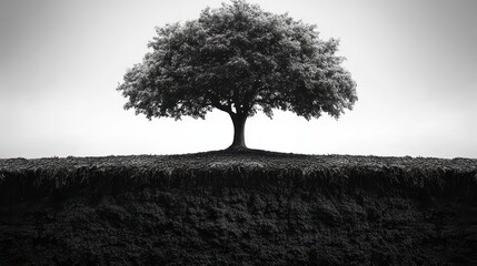
<path id="1" fill-rule="evenodd" d="M 181 154 L 232 141 L 227 113 L 147 120 L 116 88 L 155 27 L 221 0 L 1 0 L 0 158 Z M 249 0 L 340 39 L 358 101 L 339 120 L 276 111 L 249 147 L 304 154 L 477 158 L 477 1 Z"/>

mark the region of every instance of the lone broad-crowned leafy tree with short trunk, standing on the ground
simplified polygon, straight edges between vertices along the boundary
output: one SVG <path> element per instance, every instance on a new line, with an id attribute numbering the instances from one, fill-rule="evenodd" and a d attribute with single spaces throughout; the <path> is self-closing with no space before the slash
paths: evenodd
<path id="1" fill-rule="evenodd" d="M 246 149 L 247 117 L 274 109 L 307 120 L 324 112 L 338 119 L 352 109 L 356 83 L 335 53 L 338 40 L 321 40 L 316 25 L 272 14 L 242 0 L 202 10 L 199 19 L 157 28 L 142 63 L 125 74 L 118 91 L 149 120 L 205 119 L 212 109 L 233 123 L 229 149 Z"/>

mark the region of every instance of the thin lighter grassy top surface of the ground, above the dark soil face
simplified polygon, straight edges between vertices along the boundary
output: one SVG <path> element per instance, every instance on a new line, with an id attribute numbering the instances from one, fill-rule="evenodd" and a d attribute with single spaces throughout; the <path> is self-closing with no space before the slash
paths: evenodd
<path id="1" fill-rule="evenodd" d="M 415 170 L 475 171 L 477 160 L 436 157 L 384 157 L 354 155 L 305 155 L 277 153 L 261 150 L 212 151 L 181 155 L 129 155 L 105 157 L 47 157 L 0 160 L 0 171 L 21 172 L 26 170 L 73 170 L 78 167 L 175 167 L 203 168 L 213 165 L 260 165 L 268 170 L 320 168 L 320 167 L 401 167 Z"/>

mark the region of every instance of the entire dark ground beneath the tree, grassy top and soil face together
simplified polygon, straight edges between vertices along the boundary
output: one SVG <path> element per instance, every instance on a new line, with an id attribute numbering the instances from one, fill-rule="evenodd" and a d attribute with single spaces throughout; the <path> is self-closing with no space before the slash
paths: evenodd
<path id="1" fill-rule="evenodd" d="M 0 160 L 0 265 L 477 265 L 477 160 Z"/>

